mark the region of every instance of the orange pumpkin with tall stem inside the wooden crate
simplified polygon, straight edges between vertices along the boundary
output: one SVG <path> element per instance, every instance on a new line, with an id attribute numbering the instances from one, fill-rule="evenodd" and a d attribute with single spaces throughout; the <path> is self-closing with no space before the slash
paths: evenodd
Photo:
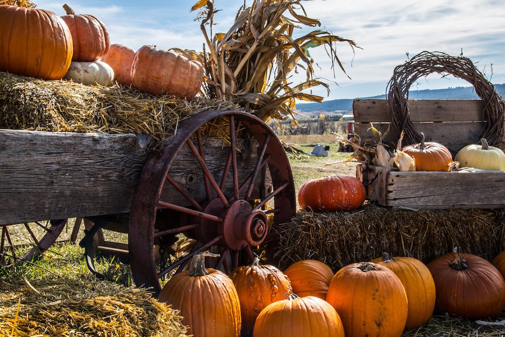
<path id="1" fill-rule="evenodd" d="M 425 142 L 424 133 L 419 144 L 405 146 L 402 152 L 416 160 L 416 171 L 449 171 L 452 155 L 443 145 L 436 142 Z"/>

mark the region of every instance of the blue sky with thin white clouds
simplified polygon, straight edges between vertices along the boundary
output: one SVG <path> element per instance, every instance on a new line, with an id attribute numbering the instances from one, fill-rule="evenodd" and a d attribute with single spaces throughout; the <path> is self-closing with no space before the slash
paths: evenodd
<path id="1" fill-rule="evenodd" d="M 64 15 L 63 3 L 35 0 L 37 7 Z M 70 1 L 70 0 L 69 0 Z M 73 0 L 68 4 L 79 14 L 92 14 L 102 20 L 112 43 L 138 49 L 156 44 L 201 50 L 204 42 L 195 13 L 189 9 L 196 0 Z M 243 0 L 215 0 L 220 26 L 227 31 Z M 251 0 L 246 0 L 247 4 Z M 340 43 L 337 54 L 344 63 L 343 73 L 330 69 L 323 48 L 311 51 L 320 70 L 317 76 L 327 78 L 331 93 L 327 98 L 356 98 L 383 94 L 393 68 L 406 61 L 406 53 L 414 56 L 422 51 L 439 51 L 450 55 L 463 54 L 476 63 L 492 83 L 505 83 L 505 1 L 504 0 L 423 0 L 423 1 L 304 1 L 310 17 L 320 19 L 322 26 L 344 38 L 355 40 L 363 49 L 352 49 Z M 293 78 L 297 80 L 297 78 Z M 302 78 L 300 78 L 300 81 Z M 466 81 L 449 76 L 440 79 L 430 75 L 420 79 L 412 89 L 436 89 L 469 86 Z M 314 90 L 325 95 L 326 90 Z"/>

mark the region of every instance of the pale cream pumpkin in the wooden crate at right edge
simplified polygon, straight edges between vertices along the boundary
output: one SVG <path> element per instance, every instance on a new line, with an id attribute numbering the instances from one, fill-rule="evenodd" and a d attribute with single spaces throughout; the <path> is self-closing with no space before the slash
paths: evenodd
<path id="1" fill-rule="evenodd" d="M 498 148 L 489 146 L 482 138 L 481 145 L 470 144 L 461 149 L 455 160 L 460 167 L 475 167 L 486 171 L 504 171 L 505 154 Z"/>

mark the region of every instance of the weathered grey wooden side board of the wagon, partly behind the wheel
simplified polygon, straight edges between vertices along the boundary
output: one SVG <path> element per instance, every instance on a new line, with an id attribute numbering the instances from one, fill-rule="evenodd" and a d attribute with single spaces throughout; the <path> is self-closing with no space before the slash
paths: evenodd
<path id="1" fill-rule="evenodd" d="M 0 224 L 128 212 L 149 141 L 134 134 L 0 130 Z M 220 179 L 229 148 L 204 139 L 204 149 L 209 170 Z M 185 151 L 171 174 L 202 200 L 201 170 Z M 237 160 L 243 180 L 257 152 L 244 151 Z M 178 193 L 169 192 L 165 201 L 188 205 Z"/>

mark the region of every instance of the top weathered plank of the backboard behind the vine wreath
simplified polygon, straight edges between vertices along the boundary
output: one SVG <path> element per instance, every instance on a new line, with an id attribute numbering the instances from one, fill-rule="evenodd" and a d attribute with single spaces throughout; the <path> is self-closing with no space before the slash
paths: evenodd
<path id="1" fill-rule="evenodd" d="M 413 122 L 482 121 L 481 100 L 409 100 Z M 390 122 L 386 100 L 355 100 L 352 103 L 355 122 Z"/>

